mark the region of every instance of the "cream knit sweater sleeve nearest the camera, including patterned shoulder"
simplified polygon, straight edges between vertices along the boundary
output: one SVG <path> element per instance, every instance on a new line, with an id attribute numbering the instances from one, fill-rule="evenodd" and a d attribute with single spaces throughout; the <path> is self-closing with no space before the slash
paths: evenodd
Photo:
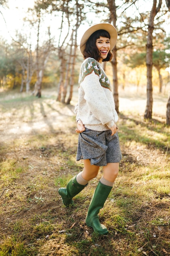
<path id="1" fill-rule="evenodd" d="M 92 115 L 100 120 L 103 125 L 106 124 L 108 128 L 111 128 L 114 125 L 113 111 L 104 92 L 104 88 L 100 84 L 98 68 L 92 65 L 92 63 L 91 65 L 87 63 L 85 65 L 86 69 L 88 69 L 88 72 L 86 72 L 81 82 L 81 86 L 85 92 L 84 99 Z"/>

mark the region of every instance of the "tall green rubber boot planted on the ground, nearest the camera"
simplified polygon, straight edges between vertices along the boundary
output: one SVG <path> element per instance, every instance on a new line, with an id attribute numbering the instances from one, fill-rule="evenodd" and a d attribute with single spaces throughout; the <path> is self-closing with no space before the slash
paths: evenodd
<path id="1" fill-rule="evenodd" d="M 92 227 L 95 232 L 101 235 L 107 234 L 109 231 L 105 225 L 100 224 L 98 213 L 104 206 L 111 189 L 111 186 L 106 186 L 101 182 L 98 183 L 85 219 L 87 226 Z"/>

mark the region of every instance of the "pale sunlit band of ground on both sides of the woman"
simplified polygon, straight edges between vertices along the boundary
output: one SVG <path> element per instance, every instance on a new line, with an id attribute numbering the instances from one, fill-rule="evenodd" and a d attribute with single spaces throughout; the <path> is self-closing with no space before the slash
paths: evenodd
<path id="1" fill-rule="evenodd" d="M 0 141 L 10 141 L 16 138 L 22 138 L 27 135 L 35 135 L 39 132 L 57 131 L 67 129 L 69 126 L 68 120 L 74 121 L 74 106 L 77 101 L 77 91 L 74 90 L 74 97 L 71 105 L 63 106 L 63 104 L 49 99 L 57 97 L 54 90 L 45 90 L 42 95 L 45 99 L 35 99 L 30 105 L 22 101 L 17 101 L 17 98 L 24 98 L 26 94 L 7 94 L 2 103 L 2 111 L 0 116 Z M 143 120 L 144 111 L 146 108 L 146 95 L 137 93 L 134 90 L 120 90 L 119 110 L 124 115 L 139 115 Z M 155 94 L 153 96 L 153 118 L 165 122 L 166 121 L 166 103 L 167 96 Z M 10 108 L 7 109 L 7 101 L 13 99 Z M 16 101 L 15 101 L 16 99 Z M 5 111 L 3 111 L 5 109 Z M 19 109 L 19 111 L 17 111 Z M 75 124 L 76 125 L 76 124 Z"/>

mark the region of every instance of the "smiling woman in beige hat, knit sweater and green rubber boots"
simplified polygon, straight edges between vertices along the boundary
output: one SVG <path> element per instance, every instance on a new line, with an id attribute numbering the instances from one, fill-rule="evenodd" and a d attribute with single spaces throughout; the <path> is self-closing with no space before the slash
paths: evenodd
<path id="1" fill-rule="evenodd" d="M 116 44 L 117 31 L 109 23 L 93 25 L 85 31 L 80 44 L 84 61 L 78 82 L 78 103 L 75 106 L 78 137 L 77 160 L 83 159 L 84 168 L 74 176 L 59 194 L 65 205 L 87 186 L 89 180 L 101 177 L 89 205 L 86 224 L 98 234 L 107 234 L 100 224 L 98 213 L 103 207 L 118 175 L 121 151 L 116 126 L 118 115 L 115 110 L 111 84 L 102 68 L 102 61 L 110 61 L 111 50 Z"/>

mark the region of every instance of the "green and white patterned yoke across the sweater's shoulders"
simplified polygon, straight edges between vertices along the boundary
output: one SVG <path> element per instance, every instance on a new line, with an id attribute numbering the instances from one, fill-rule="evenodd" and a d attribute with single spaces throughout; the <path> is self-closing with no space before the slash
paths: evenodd
<path id="1" fill-rule="evenodd" d="M 81 67 L 81 72 L 78 81 L 78 87 L 81 82 L 85 79 L 85 76 L 94 72 L 99 77 L 99 82 L 102 87 L 107 88 L 111 91 L 111 84 L 109 78 L 105 74 L 100 64 L 94 58 L 87 58 Z"/>

